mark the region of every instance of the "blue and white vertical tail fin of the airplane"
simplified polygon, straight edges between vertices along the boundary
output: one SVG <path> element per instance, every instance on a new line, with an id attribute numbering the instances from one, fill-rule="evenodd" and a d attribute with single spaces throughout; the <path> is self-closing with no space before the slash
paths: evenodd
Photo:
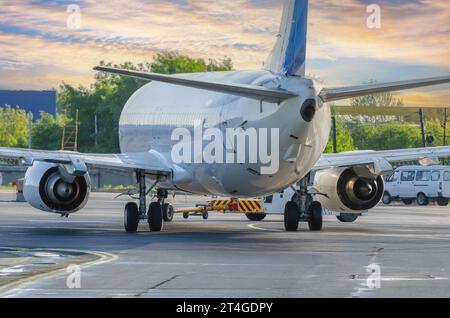
<path id="1" fill-rule="evenodd" d="M 266 69 L 282 75 L 305 75 L 308 0 L 285 0 L 278 40 Z"/>

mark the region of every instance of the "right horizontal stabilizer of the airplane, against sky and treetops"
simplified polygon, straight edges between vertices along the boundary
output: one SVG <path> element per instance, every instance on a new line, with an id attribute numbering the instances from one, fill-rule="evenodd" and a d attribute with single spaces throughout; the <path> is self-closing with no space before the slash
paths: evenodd
<path id="1" fill-rule="evenodd" d="M 319 97 L 324 103 L 376 93 L 395 92 L 412 88 L 450 83 L 450 76 L 418 79 L 386 84 L 368 84 L 342 88 L 324 88 Z"/>

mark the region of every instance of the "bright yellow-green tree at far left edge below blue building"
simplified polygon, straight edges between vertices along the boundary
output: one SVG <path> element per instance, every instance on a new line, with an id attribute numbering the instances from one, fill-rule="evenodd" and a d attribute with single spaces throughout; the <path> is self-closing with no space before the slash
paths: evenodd
<path id="1" fill-rule="evenodd" d="M 0 146 L 28 146 L 28 115 L 20 108 L 0 108 Z"/>

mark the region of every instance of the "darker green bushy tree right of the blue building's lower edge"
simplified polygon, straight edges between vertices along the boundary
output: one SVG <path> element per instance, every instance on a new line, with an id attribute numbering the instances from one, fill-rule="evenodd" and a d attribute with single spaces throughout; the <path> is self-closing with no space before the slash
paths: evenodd
<path id="1" fill-rule="evenodd" d="M 52 115 L 41 112 L 41 118 L 33 124 L 33 149 L 60 150 L 64 118 L 56 120 Z"/>

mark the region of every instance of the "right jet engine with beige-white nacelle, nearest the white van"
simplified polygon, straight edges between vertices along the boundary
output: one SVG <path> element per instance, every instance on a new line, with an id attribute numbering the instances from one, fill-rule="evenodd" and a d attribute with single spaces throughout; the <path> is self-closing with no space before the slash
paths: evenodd
<path id="1" fill-rule="evenodd" d="M 374 208 L 384 193 L 384 180 L 367 168 L 336 168 L 318 171 L 316 200 L 336 212 L 361 212 Z"/>

